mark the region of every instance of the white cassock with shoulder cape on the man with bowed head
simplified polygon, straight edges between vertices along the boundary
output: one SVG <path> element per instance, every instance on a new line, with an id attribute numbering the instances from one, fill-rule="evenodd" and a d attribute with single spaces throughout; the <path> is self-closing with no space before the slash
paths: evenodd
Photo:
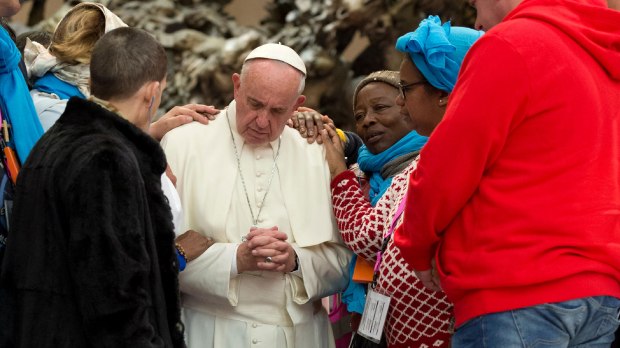
<path id="1" fill-rule="evenodd" d="M 179 277 L 188 346 L 333 347 L 320 299 L 344 289 L 351 253 L 333 215 L 324 149 L 308 145 L 288 127 L 281 143 L 244 146 L 235 111 L 233 101 L 208 125 L 193 122 L 162 140 L 177 177 L 182 230 L 216 241 Z M 241 152 L 245 188 L 227 119 Z M 277 226 L 288 235 L 299 257 L 298 271 L 234 272 L 237 247 L 253 225 L 248 199 L 255 217 L 262 205 L 258 227 Z"/>

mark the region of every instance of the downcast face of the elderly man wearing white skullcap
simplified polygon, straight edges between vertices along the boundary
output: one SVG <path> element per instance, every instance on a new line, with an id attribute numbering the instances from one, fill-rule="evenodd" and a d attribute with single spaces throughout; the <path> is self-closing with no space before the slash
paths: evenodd
<path id="1" fill-rule="evenodd" d="M 301 73 L 272 60 L 251 61 L 244 76 L 233 75 L 237 131 L 246 143 L 276 140 L 287 120 L 304 101 L 299 95 Z"/>

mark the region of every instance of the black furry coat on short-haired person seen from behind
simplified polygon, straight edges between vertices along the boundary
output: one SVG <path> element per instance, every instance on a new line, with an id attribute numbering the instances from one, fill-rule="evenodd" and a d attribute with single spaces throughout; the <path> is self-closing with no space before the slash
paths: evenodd
<path id="1" fill-rule="evenodd" d="M 69 101 L 19 174 L 2 269 L 7 346 L 184 346 L 165 167 L 142 130 Z"/>

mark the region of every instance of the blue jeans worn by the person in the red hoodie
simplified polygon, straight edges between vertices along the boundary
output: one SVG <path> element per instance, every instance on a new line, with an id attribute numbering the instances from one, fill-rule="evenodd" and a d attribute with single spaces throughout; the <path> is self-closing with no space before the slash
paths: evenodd
<path id="1" fill-rule="evenodd" d="M 620 300 L 585 297 L 481 315 L 456 330 L 454 348 L 608 348 L 618 328 Z"/>

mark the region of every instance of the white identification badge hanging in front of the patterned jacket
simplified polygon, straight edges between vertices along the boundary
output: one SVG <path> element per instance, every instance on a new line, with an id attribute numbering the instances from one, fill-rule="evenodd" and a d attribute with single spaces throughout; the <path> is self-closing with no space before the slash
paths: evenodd
<path id="1" fill-rule="evenodd" d="M 357 331 L 358 334 L 375 343 L 381 342 L 381 334 L 383 333 L 383 326 L 385 325 L 389 308 L 390 298 L 388 296 L 368 289 L 364 313 Z"/>

